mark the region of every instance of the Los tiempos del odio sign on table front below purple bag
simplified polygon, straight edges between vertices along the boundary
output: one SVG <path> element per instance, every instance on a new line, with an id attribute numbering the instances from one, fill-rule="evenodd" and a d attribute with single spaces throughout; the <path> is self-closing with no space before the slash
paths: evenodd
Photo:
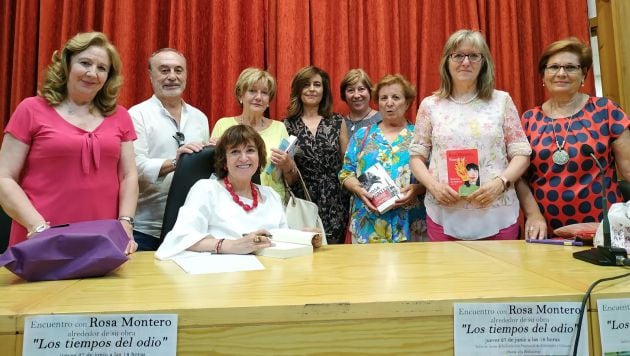
<path id="1" fill-rule="evenodd" d="M 177 314 L 37 315 L 24 321 L 22 355 L 171 356 Z"/>

